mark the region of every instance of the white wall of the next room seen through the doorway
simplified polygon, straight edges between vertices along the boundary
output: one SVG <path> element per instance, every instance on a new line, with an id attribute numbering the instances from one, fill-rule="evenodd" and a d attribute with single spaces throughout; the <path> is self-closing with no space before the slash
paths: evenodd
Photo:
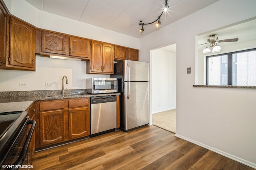
<path id="1" fill-rule="evenodd" d="M 152 51 L 152 113 L 176 108 L 176 54 Z"/>

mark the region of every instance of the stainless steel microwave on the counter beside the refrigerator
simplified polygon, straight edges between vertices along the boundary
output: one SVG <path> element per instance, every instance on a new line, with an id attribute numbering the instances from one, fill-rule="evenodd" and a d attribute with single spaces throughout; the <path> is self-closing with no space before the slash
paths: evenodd
<path id="1" fill-rule="evenodd" d="M 117 92 L 117 78 L 87 78 L 87 93 L 114 93 Z"/>

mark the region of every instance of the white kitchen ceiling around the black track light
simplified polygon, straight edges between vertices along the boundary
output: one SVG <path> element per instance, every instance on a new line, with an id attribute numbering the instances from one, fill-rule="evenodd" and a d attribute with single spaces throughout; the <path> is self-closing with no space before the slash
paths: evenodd
<path id="1" fill-rule="evenodd" d="M 141 38 L 156 30 L 150 23 L 158 18 L 165 0 L 26 0 L 42 10 L 132 37 Z M 170 8 L 161 16 L 161 27 L 188 16 L 218 0 L 168 0 Z"/>

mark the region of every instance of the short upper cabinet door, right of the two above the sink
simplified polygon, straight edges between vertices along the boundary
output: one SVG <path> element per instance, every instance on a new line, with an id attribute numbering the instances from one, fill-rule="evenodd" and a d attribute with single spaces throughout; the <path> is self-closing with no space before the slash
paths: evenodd
<path id="1" fill-rule="evenodd" d="M 91 54 L 90 40 L 70 37 L 69 38 L 70 56 L 83 57 L 89 59 Z"/>

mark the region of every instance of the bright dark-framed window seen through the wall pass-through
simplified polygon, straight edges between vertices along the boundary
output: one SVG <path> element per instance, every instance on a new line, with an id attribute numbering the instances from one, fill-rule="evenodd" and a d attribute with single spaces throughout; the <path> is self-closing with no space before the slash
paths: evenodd
<path id="1" fill-rule="evenodd" d="M 256 86 L 256 49 L 207 56 L 206 84 Z"/>

